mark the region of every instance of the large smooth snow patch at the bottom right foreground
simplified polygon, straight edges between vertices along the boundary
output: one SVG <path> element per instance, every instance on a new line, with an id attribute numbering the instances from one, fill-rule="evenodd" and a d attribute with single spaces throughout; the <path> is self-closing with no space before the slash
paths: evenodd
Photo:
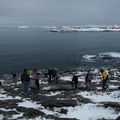
<path id="1" fill-rule="evenodd" d="M 120 115 L 120 113 L 119 113 Z M 97 120 L 97 119 L 115 119 L 118 114 L 113 109 L 104 109 L 96 104 L 85 104 L 76 107 L 69 107 L 67 115 L 62 117 L 77 118 L 80 120 Z"/>

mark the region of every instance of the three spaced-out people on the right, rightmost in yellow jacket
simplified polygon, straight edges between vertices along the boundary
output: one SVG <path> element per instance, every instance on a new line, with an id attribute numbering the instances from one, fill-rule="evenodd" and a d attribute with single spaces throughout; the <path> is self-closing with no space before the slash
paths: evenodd
<path id="1" fill-rule="evenodd" d="M 109 80 L 109 75 L 108 75 L 108 71 L 107 70 L 101 69 L 100 72 L 101 72 L 101 76 L 102 76 L 102 89 L 104 91 L 107 88 L 107 82 Z M 87 89 L 91 88 L 91 81 L 92 81 L 92 79 L 93 79 L 93 75 L 92 75 L 91 71 L 88 70 L 87 74 L 85 76 L 85 85 L 86 85 Z M 78 88 L 78 76 L 73 75 L 71 85 L 72 85 L 72 87 L 74 89 Z"/>

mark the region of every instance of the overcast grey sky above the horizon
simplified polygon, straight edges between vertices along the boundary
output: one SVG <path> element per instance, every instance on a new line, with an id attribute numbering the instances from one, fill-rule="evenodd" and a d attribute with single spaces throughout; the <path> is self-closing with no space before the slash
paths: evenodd
<path id="1" fill-rule="evenodd" d="M 120 23 L 120 0 L 0 0 L 0 25 Z"/>

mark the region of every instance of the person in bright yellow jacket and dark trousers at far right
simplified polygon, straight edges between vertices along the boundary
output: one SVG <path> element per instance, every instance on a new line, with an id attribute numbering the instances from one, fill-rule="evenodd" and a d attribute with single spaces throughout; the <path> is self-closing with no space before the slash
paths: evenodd
<path id="1" fill-rule="evenodd" d="M 102 89 L 103 89 L 103 90 L 106 90 L 107 81 L 108 81 L 108 79 L 109 79 L 109 78 L 108 78 L 108 71 L 101 69 L 100 72 L 101 72 L 101 75 L 102 75 Z"/>

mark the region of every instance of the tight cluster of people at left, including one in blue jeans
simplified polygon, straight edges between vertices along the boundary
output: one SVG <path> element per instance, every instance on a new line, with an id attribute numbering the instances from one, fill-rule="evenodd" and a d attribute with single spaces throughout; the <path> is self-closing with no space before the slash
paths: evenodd
<path id="1" fill-rule="evenodd" d="M 27 69 L 24 69 L 24 72 L 21 75 L 21 81 L 23 83 L 23 90 L 25 95 L 28 94 L 29 88 L 31 88 L 33 94 L 37 90 L 40 89 L 39 86 L 39 79 L 40 79 L 40 73 L 37 71 L 37 69 L 27 71 Z"/>

